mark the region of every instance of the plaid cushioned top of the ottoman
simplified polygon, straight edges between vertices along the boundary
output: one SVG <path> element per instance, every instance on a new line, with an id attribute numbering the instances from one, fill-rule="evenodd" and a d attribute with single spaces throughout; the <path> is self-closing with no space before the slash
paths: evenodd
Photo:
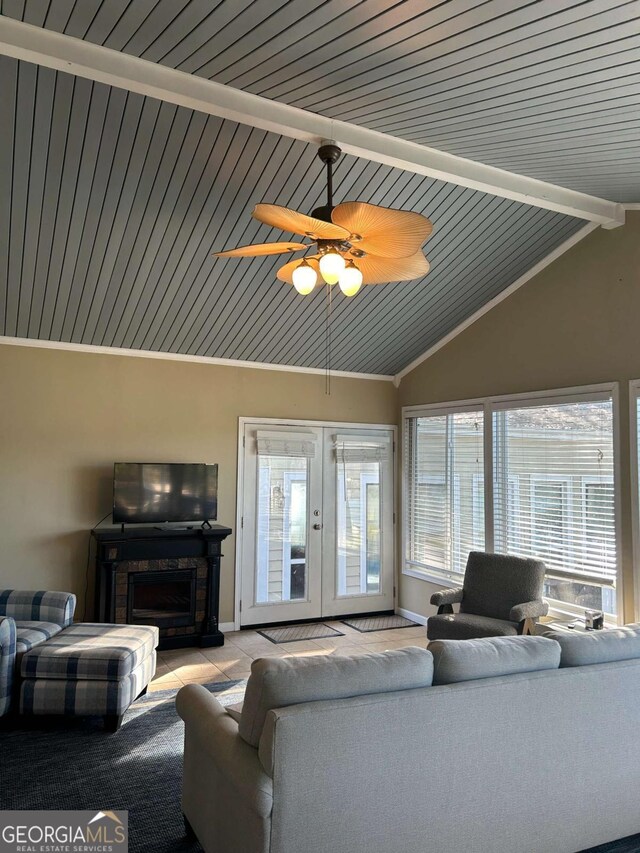
<path id="1" fill-rule="evenodd" d="M 158 638 L 153 625 L 78 622 L 26 652 L 22 676 L 118 681 L 154 653 Z"/>

